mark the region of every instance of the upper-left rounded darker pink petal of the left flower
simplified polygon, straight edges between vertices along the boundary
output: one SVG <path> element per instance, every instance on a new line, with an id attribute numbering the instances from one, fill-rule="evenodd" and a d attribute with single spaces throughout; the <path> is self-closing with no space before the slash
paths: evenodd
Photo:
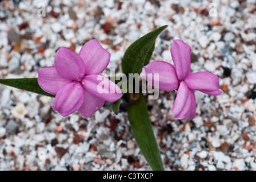
<path id="1" fill-rule="evenodd" d="M 58 49 L 55 55 L 55 68 L 59 75 L 73 81 L 81 81 L 85 75 L 85 63 L 77 55 L 65 47 Z"/>

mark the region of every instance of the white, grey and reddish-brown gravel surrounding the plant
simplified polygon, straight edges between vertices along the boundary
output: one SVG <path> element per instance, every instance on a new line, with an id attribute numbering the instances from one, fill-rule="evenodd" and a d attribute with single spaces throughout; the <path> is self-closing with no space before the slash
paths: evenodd
<path id="1" fill-rule="evenodd" d="M 209 15 L 209 4 L 217 16 Z M 134 40 L 168 25 L 151 61 L 173 64 L 173 39 L 190 44 L 191 72 L 219 76 L 221 96 L 196 93 L 197 117 L 174 119 L 175 92 L 147 101 L 166 170 L 256 169 L 256 2 L 249 1 L 1 1 L 0 78 L 37 77 L 61 46 L 79 52 L 97 39 L 110 68 Z M 38 16 L 38 4 L 46 16 Z M 211 12 L 210 12 L 211 13 Z M 61 117 L 53 98 L 0 85 L 1 170 L 151 170 L 131 133 L 124 104 L 106 103 L 93 117 Z M 38 164 L 44 152 L 46 164 Z M 209 162 L 215 157 L 217 164 Z M 211 158 L 212 159 L 212 158 Z"/>

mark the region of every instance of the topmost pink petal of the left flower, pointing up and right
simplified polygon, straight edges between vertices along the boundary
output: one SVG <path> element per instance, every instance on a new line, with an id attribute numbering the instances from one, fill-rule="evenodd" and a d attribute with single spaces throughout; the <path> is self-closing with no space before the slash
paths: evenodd
<path id="1" fill-rule="evenodd" d="M 79 52 L 85 63 L 85 75 L 99 75 L 109 65 L 110 53 L 97 40 L 87 42 Z"/>

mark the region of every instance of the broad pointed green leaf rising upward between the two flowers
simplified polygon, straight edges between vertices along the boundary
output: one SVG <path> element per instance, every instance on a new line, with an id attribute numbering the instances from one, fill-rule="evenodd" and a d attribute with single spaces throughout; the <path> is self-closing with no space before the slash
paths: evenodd
<path id="1" fill-rule="evenodd" d="M 132 43 L 126 50 L 122 59 L 122 71 L 126 75 L 129 73 L 141 73 L 143 65 L 145 65 L 145 59 L 150 52 L 157 36 L 165 30 L 167 26 L 162 26 L 148 34 L 142 36 L 134 43 Z M 153 52 L 153 51 L 152 51 Z M 148 56 L 147 59 L 150 59 Z M 146 60 L 148 61 L 148 60 Z"/>

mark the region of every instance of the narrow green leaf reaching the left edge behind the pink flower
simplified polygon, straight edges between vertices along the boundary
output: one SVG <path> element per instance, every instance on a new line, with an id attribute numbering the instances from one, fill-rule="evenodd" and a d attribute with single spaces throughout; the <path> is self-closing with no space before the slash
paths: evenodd
<path id="1" fill-rule="evenodd" d="M 41 89 L 41 87 L 38 85 L 37 78 L 0 79 L 0 84 L 13 86 L 18 89 L 27 90 L 29 92 L 38 93 L 44 96 L 55 97 L 54 95 Z"/>

